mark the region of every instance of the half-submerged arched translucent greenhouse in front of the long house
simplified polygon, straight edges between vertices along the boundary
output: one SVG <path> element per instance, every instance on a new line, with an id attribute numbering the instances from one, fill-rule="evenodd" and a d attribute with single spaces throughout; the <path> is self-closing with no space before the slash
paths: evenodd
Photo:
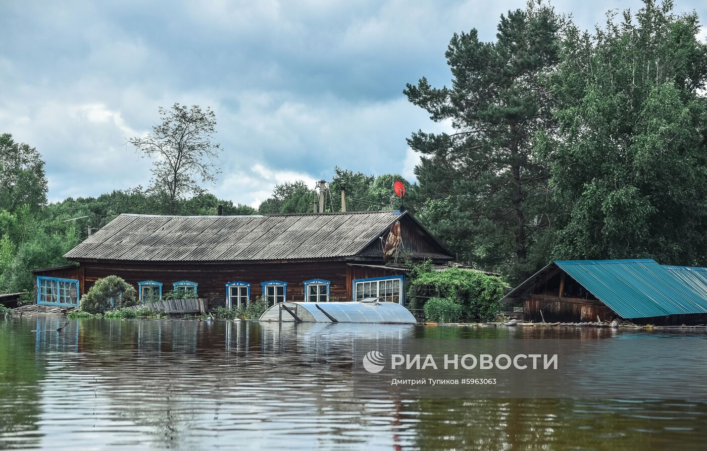
<path id="1" fill-rule="evenodd" d="M 268 308 L 261 321 L 294 323 L 416 323 L 407 308 L 397 302 L 280 302 Z"/>

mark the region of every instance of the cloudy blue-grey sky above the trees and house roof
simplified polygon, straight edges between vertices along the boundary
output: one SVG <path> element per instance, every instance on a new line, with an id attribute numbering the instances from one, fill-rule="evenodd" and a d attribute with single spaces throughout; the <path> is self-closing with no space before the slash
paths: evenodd
<path id="1" fill-rule="evenodd" d="M 640 1 L 555 1 L 584 28 Z M 329 179 L 335 165 L 413 178 L 405 138 L 438 131 L 402 95 L 449 83 L 453 32 L 493 40 L 524 0 L 4 1 L 0 133 L 36 146 L 49 199 L 146 186 L 125 145 L 174 102 L 209 106 L 223 174 L 209 189 L 256 205 L 276 183 Z M 677 0 L 677 11 L 701 0 Z M 707 19 L 706 19 L 707 20 Z M 704 29 L 703 29 L 704 30 Z M 703 35 L 706 33 L 703 32 Z"/>

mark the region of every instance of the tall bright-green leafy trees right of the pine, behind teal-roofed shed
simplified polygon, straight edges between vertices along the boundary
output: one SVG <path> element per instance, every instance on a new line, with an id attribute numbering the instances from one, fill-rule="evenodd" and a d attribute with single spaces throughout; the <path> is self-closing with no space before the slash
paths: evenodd
<path id="1" fill-rule="evenodd" d="M 543 139 L 566 208 L 556 258 L 707 265 L 707 45 L 696 13 L 653 0 L 590 35 L 573 25 Z"/>

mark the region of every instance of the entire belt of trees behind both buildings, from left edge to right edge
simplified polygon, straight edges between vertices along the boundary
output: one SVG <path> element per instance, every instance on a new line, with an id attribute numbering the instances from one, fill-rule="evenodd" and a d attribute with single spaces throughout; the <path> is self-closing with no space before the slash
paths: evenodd
<path id="1" fill-rule="evenodd" d="M 530 1 L 501 16 L 494 42 L 454 35 L 452 84 L 404 90 L 453 128 L 409 138 L 421 162 L 406 207 L 460 260 L 510 283 L 558 258 L 707 265 L 707 45 L 696 13 L 673 9 L 645 0 L 583 31 Z M 52 204 L 40 152 L 0 136 L 0 291 L 31 291 L 29 270 L 65 264 L 89 228 L 120 213 L 305 213 L 318 201 L 303 181 L 257 209 L 216 198 L 201 187 L 220 164 L 214 113 L 175 104 L 160 115 L 129 140 L 155 158 L 148 188 Z M 336 167 L 325 209 L 341 210 L 342 188 L 349 211 L 399 208 L 397 179 Z"/>

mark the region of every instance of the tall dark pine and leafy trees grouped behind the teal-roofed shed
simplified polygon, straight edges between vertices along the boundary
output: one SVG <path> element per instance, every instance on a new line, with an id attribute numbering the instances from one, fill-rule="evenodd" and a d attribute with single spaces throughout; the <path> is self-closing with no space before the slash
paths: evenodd
<path id="1" fill-rule="evenodd" d="M 452 85 L 404 90 L 454 128 L 409 138 L 423 222 L 510 282 L 556 258 L 707 265 L 707 46 L 673 8 L 583 32 L 531 1 L 496 42 L 454 35 Z"/>

